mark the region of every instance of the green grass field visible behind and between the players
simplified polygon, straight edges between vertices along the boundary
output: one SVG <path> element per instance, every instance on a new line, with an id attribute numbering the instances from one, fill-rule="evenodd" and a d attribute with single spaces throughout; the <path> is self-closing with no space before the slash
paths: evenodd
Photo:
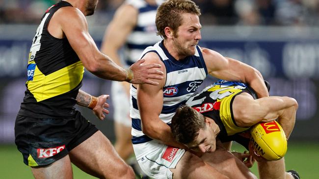
<path id="1" fill-rule="evenodd" d="M 238 144 L 233 150 L 242 152 L 244 149 Z M 286 168 L 295 169 L 301 179 L 319 179 L 319 143 L 288 144 L 286 154 Z M 22 155 L 16 146 L 0 146 L 0 179 L 32 179 L 30 168 L 23 163 Z M 257 175 L 257 164 L 251 168 Z M 95 179 L 73 166 L 74 179 Z"/>

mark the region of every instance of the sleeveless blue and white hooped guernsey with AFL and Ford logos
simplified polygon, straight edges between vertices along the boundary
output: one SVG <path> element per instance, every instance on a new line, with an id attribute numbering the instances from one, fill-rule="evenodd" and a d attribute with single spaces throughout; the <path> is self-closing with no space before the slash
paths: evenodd
<path id="1" fill-rule="evenodd" d="M 143 57 L 148 52 L 155 52 L 159 55 L 161 61 L 166 67 L 166 83 L 163 88 L 163 108 L 160 113 L 160 119 L 166 124 L 170 125 L 171 118 L 175 114 L 176 109 L 186 103 L 186 100 L 197 90 L 207 76 L 207 68 L 199 49 L 196 46 L 195 55 L 186 57 L 184 60 L 177 61 L 172 57 L 163 45 L 163 41 L 158 42 L 154 46 L 147 47 L 143 53 Z M 137 90 L 131 85 L 130 103 L 132 118 L 132 142 L 133 146 L 136 144 L 143 144 L 152 141 L 150 137 L 143 134 L 141 129 L 141 119 L 137 107 Z M 148 153 L 156 150 L 156 146 L 150 149 L 148 146 Z M 139 153 L 135 152 L 135 156 L 141 157 Z"/>

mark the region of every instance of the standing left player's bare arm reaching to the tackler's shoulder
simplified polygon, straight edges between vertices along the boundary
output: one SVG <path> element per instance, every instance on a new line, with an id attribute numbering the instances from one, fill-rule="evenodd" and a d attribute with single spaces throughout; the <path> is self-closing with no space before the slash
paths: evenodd
<path id="1" fill-rule="evenodd" d="M 86 19 L 79 9 L 63 7 L 53 15 L 53 18 L 54 16 L 83 66 L 96 76 L 115 81 L 151 85 L 158 85 L 158 83 L 150 79 L 162 79 L 162 72 L 158 70 L 160 67 L 158 64 L 141 65 L 144 61 L 140 61 L 129 69 L 124 69 L 101 53 L 88 33 Z"/>

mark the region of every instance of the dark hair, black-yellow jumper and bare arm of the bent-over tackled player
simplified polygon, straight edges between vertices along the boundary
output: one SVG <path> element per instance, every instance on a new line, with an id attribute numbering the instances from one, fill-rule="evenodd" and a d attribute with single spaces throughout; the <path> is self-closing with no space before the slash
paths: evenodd
<path id="1" fill-rule="evenodd" d="M 265 83 L 269 90 L 269 83 Z M 245 94 L 241 95 L 242 93 Z M 234 104 L 237 96 L 239 97 Z M 235 140 L 248 149 L 249 139 L 239 133 L 260 121 L 278 118 L 288 138 L 294 125 L 296 107 L 297 102 L 293 98 L 270 96 L 257 99 L 254 90 L 246 84 L 219 80 L 189 98 L 186 106 L 180 107 L 173 116 L 171 128 L 179 142 L 192 143 L 198 134 L 196 129 L 204 128 L 208 118 L 215 123 L 214 134 L 221 142 Z M 198 113 L 188 109 L 194 109 Z M 213 150 L 214 146 L 210 149 Z"/>

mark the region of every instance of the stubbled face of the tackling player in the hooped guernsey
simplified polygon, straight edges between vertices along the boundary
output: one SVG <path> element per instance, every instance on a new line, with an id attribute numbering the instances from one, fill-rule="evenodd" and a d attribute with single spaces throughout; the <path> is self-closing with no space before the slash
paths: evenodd
<path id="1" fill-rule="evenodd" d="M 174 36 L 174 46 L 179 56 L 195 54 L 196 45 L 202 39 L 200 29 L 202 25 L 196 14 L 182 14 L 182 25 L 178 27 Z"/>

